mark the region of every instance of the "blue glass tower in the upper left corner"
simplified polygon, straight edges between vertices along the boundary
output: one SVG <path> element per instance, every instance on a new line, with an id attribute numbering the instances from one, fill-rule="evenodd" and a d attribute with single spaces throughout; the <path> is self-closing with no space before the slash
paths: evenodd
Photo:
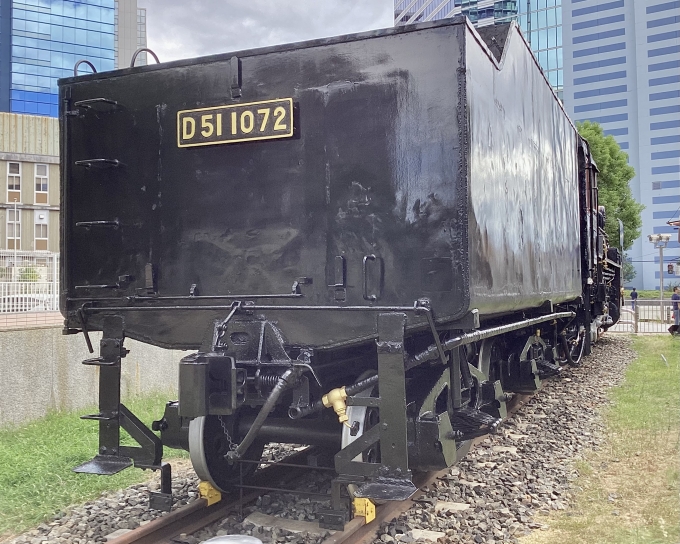
<path id="1" fill-rule="evenodd" d="M 58 115 L 80 59 L 114 68 L 114 0 L 0 0 L 0 111 Z"/>

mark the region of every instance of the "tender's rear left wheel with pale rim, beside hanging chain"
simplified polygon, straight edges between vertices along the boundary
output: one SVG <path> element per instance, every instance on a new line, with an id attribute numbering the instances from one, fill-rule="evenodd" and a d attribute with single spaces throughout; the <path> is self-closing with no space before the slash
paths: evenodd
<path id="1" fill-rule="evenodd" d="M 257 468 L 255 463 L 229 463 L 224 458 L 232 446 L 238 445 L 235 427 L 235 418 L 229 416 L 202 416 L 189 423 L 189 455 L 196 475 L 224 492 Z M 264 443 L 256 441 L 243 459 L 259 461 L 263 449 Z"/>

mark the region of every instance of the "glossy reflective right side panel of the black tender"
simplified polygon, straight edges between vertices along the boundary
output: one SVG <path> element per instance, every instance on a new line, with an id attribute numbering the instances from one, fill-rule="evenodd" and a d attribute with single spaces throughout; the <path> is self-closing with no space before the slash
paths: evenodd
<path id="1" fill-rule="evenodd" d="M 501 67 L 468 37 L 470 291 L 482 314 L 581 294 L 576 134 L 516 27 Z"/>

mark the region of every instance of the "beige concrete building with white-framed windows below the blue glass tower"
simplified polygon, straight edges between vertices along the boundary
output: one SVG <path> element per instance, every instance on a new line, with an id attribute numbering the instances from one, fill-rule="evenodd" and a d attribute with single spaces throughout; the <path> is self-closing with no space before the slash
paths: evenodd
<path id="1" fill-rule="evenodd" d="M 59 251 L 59 121 L 0 113 L 0 249 Z"/>

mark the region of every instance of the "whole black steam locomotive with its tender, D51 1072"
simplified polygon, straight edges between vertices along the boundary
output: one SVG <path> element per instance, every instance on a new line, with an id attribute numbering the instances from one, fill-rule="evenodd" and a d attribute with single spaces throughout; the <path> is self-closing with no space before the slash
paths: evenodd
<path id="1" fill-rule="evenodd" d="M 103 331 L 85 361 L 100 448 L 76 470 L 161 469 L 158 507 L 164 447 L 228 491 L 270 441 L 335 452 L 331 522 L 346 487 L 407 498 L 414 471 L 456 463 L 512 394 L 618 320 L 597 167 L 514 23 L 131 67 L 59 93 L 64 331 L 91 351 Z M 121 404 L 125 338 L 192 350 L 153 429 Z"/>

